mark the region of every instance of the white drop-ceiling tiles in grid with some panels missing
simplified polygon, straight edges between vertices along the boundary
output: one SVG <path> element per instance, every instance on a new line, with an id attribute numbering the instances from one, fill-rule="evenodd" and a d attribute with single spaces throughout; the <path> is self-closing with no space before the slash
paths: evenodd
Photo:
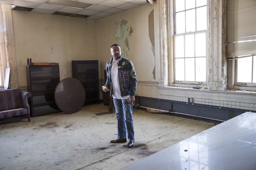
<path id="1" fill-rule="evenodd" d="M 54 4 L 45 4 L 47 1 L 48 0 L 0 0 L 0 3 L 33 8 L 31 12 L 52 14 L 58 11 L 80 15 L 89 15 L 91 17 L 88 18 L 93 19 L 106 17 L 148 3 L 147 0 L 70 0 L 80 3 L 92 4 L 92 6 L 83 10 Z"/>

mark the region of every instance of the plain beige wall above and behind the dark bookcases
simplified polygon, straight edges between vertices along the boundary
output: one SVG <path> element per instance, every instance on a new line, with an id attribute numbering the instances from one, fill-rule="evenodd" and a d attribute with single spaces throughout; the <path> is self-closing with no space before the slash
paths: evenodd
<path id="1" fill-rule="evenodd" d="M 59 63 L 60 80 L 72 60 L 98 60 L 97 20 L 12 10 L 19 87 L 27 86 L 27 58 Z"/>

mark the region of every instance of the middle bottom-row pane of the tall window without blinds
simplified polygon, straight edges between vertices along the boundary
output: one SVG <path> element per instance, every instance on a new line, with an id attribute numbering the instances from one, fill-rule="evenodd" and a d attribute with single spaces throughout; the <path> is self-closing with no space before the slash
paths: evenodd
<path id="1" fill-rule="evenodd" d="M 185 58 L 185 80 L 195 81 L 195 58 Z"/>

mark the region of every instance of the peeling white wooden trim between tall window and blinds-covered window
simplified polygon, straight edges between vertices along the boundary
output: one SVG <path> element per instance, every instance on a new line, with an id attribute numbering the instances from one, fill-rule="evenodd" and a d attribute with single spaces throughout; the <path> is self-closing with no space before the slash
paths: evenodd
<path id="1" fill-rule="evenodd" d="M 227 89 L 227 1 L 208 0 L 208 87 Z"/>

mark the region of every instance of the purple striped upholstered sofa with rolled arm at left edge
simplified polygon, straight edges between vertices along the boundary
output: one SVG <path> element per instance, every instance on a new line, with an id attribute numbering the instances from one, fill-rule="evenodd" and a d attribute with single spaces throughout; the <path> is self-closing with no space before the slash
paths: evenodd
<path id="1" fill-rule="evenodd" d="M 31 97 L 31 93 L 22 90 L 0 90 L 0 119 L 28 115 L 30 122 L 28 97 Z"/>

